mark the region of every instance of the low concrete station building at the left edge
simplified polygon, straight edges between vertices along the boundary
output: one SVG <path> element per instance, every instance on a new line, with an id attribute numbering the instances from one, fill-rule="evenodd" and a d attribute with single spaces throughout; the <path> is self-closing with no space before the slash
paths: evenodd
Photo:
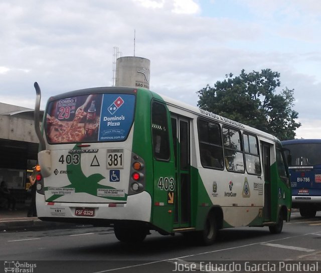
<path id="1" fill-rule="evenodd" d="M 28 172 L 37 163 L 38 146 L 34 110 L 0 103 L 0 182 L 6 181 L 18 205 L 27 198 Z"/>

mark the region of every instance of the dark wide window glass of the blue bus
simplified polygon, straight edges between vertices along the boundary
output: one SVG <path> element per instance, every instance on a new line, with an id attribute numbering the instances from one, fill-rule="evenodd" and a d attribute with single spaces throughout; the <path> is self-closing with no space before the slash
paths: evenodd
<path id="1" fill-rule="evenodd" d="M 321 151 L 321 143 L 283 144 L 283 147 L 286 148 L 284 151 L 285 155 L 291 151 L 289 166 L 313 166 L 321 164 L 319 152 Z"/>

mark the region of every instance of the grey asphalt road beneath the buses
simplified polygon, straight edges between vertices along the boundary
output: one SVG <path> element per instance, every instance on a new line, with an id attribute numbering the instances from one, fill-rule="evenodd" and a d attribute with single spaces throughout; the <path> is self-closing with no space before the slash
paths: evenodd
<path id="1" fill-rule="evenodd" d="M 0 245 L 0 260 L 7 261 L 0 264 L 0 271 L 13 266 L 8 261 L 15 261 L 32 273 L 277 272 L 273 268 L 321 272 L 321 212 L 311 219 L 292 213 L 291 222 L 284 223 L 282 233 L 276 235 L 267 227 L 225 229 L 211 246 L 188 242 L 180 234 L 156 232 L 141 244 L 128 245 L 119 242 L 112 229 L 93 227 L 3 232 Z"/>

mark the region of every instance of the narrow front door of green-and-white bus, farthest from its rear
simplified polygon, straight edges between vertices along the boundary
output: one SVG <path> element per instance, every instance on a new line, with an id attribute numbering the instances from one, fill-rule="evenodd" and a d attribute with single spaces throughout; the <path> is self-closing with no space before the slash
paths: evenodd
<path id="1" fill-rule="evenodd" d="M 264 222 L 271 220 L 271 145 L 261 142 L 264 170 Z"/>

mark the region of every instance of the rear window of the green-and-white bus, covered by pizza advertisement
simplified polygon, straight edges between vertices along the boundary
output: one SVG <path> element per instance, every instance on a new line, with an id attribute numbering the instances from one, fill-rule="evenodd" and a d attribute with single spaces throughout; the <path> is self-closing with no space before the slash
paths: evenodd
<path id="1" fill-rule="evenodd" d="M 48 104 L 45 132 L 49 144 L 126 140 L 134 118 L 135 96 L 91 94 Z"/>

